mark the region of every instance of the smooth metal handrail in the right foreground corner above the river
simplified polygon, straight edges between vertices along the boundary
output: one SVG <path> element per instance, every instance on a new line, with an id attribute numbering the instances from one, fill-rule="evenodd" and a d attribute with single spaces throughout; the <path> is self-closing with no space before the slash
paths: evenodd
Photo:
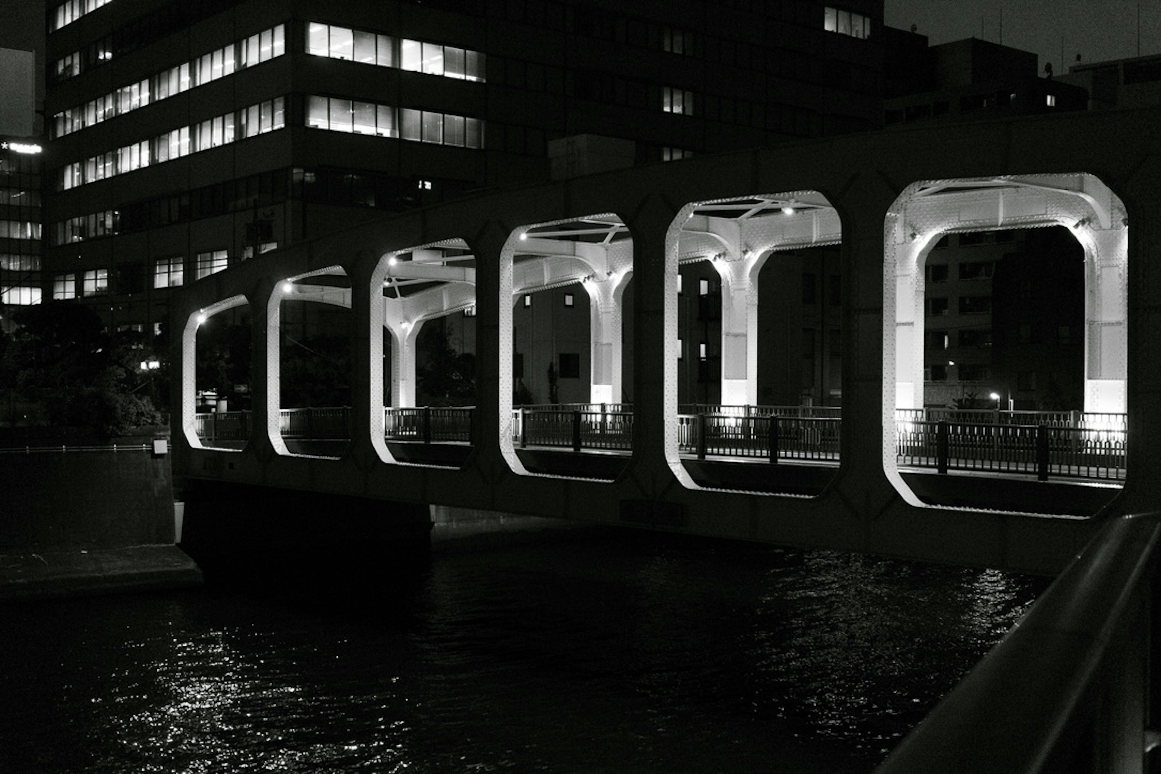
<path id="1" fill-rule="evenodd" d="M 1159 542 L 1161 514 L 1106 525 L 877 774 L 1147 771 Z"/>

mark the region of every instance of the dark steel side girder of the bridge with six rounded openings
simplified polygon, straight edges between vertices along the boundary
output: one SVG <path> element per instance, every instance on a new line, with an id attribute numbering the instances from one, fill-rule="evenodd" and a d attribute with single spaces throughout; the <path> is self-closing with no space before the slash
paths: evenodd
<path id="1" fill-rule="evenodd" d="M 1108 237 L 1111 245 L 1101 237 L 1102 232 L 1124 230 L 1124 222 L 1117 224 L 1120 209 L 1102 210 L 1094 205 L 1102 197 L 1099 191 L 1088 188 L 1087 179 L 1079 188 L 1069 188 L 1066 179 L 1075 181 L 1076 169 L 1090 171 L 1093 179 L 1103 182 L 1124 202 L 1125 217 L 1133 218 L 1134 238 L 1125 248 L 1127 262 L 1124 267 L 1111 267 L 1108 276 L 1122 273 L 1126 290 L 1103 298 L 1102 303 L 1116 304 L 1117 298 L 1124 298 L 1125 304 L 1128 475 L 1124 490 L 1109 507 L 1111 511 L 1154 507 L 1161 495 L 1161 480 L 1151 476 L 1142 463 L 1161 455 L 1161 374 L 1156 372 L 1161 363 L 1161 337 L 1146 334 L 1161 330 L 1161 303 L 1158 303 L 1161 273 L 1149 268 L 1161 265 L 1159 126 L 1161 109 L 907 126 L 499 191 L 394 215 L 268 253 L 182 288 L 173 296 L 172 330 L 187 332 L 175 337 L 171 357 L 175 367 L 174 425 L 182 429 L 174 434 L 175 471 L 589 521 L 621 522 L 625 513 L 628 514 L 625 519 L 632 522 L 637 518 L 633 515 L 637 513 L 633 504 L 658 504 L 656 507 L 662 511 L 646 513 L 669 514 L 665 508 L 672 508 L 675 515 L 665 516 L 669 520 L 663 522 L 695 534 L 899 556 L 940 556 L 988 566 L 1043 566 L 1038 557 L 1046 552 L 1057 551 L 1061 556 L 1074 552 L 1088 535 L 1086 528 L 1075 526 L 1074 520 L 1068 522 L 1073 526 L 1054 527 L 1055 531 L 1048 534 L 1043 519 L 925 507 L 895 485 L 897 473 L 884 458 L 885 439 L 893 427 L 887 408 L 894 408 L 896 396 L 899 323 L 894 305 L 897 277 L 892 276 L 893 268 L 887 269 L 895 262 L 888 261 L 887 255 L 890 252 L 894 259 L 896 246 L 908 244 L 903 237 L 910 236 L 906 231 L 906 214 L 900 212 L 896 203 L 915 181 L 930 186 L 923 181 L 1018 179 L 1019 188 L 1032 191 L 1043 190 L 1037 186 L 1044 187 L 1044 179 L 1051 176 L 1054 180 L 1046 187 L 1060 196 L 1070 196 L 1093 218 L 1090 223 L 1080 223 L 1084 218 L 1077 218 L 1072 225 L 1080 223 L 1083 231 L 1091 224 L 1096 234 L 1091 239 L 1094 261 L 1104 261 L 1110 251 L 1120 249 L 1111 237 Z M 1118 142 L 1112 144 L 1109 138 Z M 1137 152 L 1127 153 L 1126 147 Z M 1026 176 L 1029 171 L 1036 172 L 1036 176 Z M 752 196 L 753 191 L 800 190 L 825 196 L 842 220 L 845 301 L 841 466 L 827 489 L 813 498 L 701 490 L 683 475 L 680 462 L 671 453 L 676 449 L 671 437 L 677 404 L 675 299 L 683 212 L 691 202 L 733 200 Z M 926 189 L 920 198 L 937 197 L 944 190 Z M 1045 195 L 1058 196 L 1053 191 Z M 964 191 L 951 195 L 969 198 Z M 1004 194 L 1004 225 L 1017 223 L 1012 208 L 1026 195 L 1014 193 L 1009 198 Z M 996 207 L 998 210 L 998 202 Z M 509 240 L 518 239 L 514 234 L 521 224 L 576 220 L 592 212 L 615 214 L 633 239 L 636 353 L 633 456 L 613 482 L 562 483 L 558 478 L 513 475 L 517 471 L 500 441 L 507 435 L 503 424 L 511 421 L 511 412 L 506 411 L 511 404 L 507 349 L 511 323 L 505 327 L 503 318 L 511 314 L 513 280 L 504 253 Z M 890 217 L 895 219 L 889 222 Z M 996 227 L 997 222 L 987 227 Z M 376 412 L 372 385 L 382 383 L 382 349 L 376 353 L 373 346 L 376 335 L 382 341 L 385 313 L 382 283 L 387 267 L 381 258 L 413 245 L 452 239 L 461 239 L 476 260 L 481 378 L 475 444 L 463 468 L 423 466 L 423 475 L 416 475 L 416 465 L 394 462 L 380 451 L 382 399 L 377 398 Z M 352 439 L 351 450 L 339 460 L 286 456 L 275 447 L 269 422 L 255 417 L 255 425 L 266 432 L 255 433 L 244 451 L 230 455 L 232 466 L 225 465 L 221 462 L 224 453 L 200 448 L 190 437 L 194 410 L 194 376 L 187 353 L 194 339 L 190 319 L 222 299 L 244 297 L 253 318 L 254 362 L 266 363 L 257 370 L 268 371 L 269 301 L 277 292 L 276 283 L 331 266 L 341 267 L 352 284 L 356 437 Z M 1109 321 L 1098 314 L 1090 314 L 1090 320 Z M 1090 360 L 1094 356 L 1090 347 Z M 255 374 L 253 382 L 254 412 L 268 418 L 276 407 L 268 398 L 271 374 Z"/>

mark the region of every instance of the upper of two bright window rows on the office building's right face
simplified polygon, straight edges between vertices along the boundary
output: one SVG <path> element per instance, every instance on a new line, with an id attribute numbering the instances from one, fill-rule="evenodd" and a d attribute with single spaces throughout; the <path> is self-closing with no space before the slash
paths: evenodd
<path id="1" fill-rule="evenodd" d="M 444 78 L 484 80 L 484 55 L 478 51 L 331 24 L 307 24 L 307 53 Z"/>

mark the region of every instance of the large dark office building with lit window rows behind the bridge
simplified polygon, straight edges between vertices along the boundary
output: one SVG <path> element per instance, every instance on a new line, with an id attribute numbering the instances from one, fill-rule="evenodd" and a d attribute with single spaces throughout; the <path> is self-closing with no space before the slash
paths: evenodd
<path id="1" fill-rule="evenodd" d="M 384 211 L 875 128 L 881 20 L 881 0 L 50 5 L 43 295 L 149 332 L 170 288 Z"/>

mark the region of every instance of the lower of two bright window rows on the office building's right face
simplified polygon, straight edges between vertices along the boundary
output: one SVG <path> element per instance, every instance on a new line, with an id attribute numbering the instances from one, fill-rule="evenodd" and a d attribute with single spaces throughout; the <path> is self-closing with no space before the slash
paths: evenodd
<path id="1" fill-rule="evenodd" d="M 484 146 L 484 122 L 478 118 L 336 97 L 307 97 L 307 125 L 438 145 Z"/>

